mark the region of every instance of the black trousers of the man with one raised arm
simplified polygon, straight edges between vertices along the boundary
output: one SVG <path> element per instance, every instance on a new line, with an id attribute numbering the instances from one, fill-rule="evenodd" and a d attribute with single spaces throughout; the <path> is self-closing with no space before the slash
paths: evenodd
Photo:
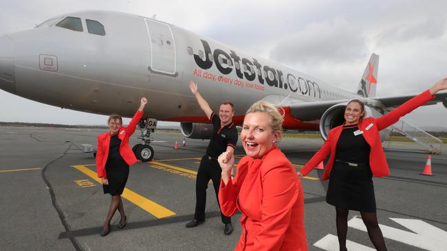
<path id="1" fill-rule="evenodd" d="M 197 171 L 197 180 L 195 180 L 195 213 L 194 219 L 198 221 L 205 220 L 205 206 L 206 206 L 206 189 L 208 182 L 212 180 L 214 191 L 216 193 L 217 204 L 219 205 L 219 186 L 221 180 L 222 169 L 217 163 L 217 160 L 210 160 L 208 156 L 201 157 L 199 171 Z M 220 206 L 219 206 L 220 208 Z M 226 217 L 221 212 L 221 219 L 224 224 L 231 222 L 231 217 Z"/>

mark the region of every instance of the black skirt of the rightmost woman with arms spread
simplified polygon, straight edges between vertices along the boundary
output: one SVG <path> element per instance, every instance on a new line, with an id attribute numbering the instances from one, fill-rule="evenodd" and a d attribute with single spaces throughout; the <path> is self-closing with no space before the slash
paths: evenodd
<path id="1" fill-rule="evenodd" d="M 372 177 L 369 165 L 351 167 L 336 161 L 329 176 L 326 202 L 338 208 L 375 212 Z"/>

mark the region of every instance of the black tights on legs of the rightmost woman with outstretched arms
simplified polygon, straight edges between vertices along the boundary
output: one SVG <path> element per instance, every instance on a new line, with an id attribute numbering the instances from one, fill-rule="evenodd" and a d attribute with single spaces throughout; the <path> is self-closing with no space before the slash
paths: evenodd
<path id="1" fill-rule="evenodd" d="M 337 224 L 337 235 L 338 243 L 340 245 L 340 251 L 346 251 L 346 235 L 348 232 L 348 214 L 349 209 L 336 207 L 336 224 Z M 373 243 L 374 247 L 378 251 L 386 251 L 385 241 L 383 239 L 382 231 L 380 230 L 379 224 L 377 222 L 377 215 L 375 212 L 362 212 L 362 220 L 364 226 L 367 227 L 369 239 Z"/>

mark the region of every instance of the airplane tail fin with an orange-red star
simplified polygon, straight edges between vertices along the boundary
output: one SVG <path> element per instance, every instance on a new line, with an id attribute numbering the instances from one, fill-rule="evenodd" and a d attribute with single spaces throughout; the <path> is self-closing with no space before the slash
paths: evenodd
<path id="1" fill-rule="evenodd" d="M 375 96 L 375 85 L 377 84 L 377 72 L 379 66 L 379 56 L 373 53 L 367 68 L 364 69 L 362 79 L 357 87 L 357 94 L 362 97 L 374 97 Z"/>

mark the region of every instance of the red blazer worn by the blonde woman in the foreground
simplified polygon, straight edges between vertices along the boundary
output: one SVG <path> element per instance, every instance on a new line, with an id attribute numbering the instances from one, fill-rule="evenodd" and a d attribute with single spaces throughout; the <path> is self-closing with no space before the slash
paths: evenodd
<path id="1" fill-rule="evenodd" d="M 235 178 L 221 180 L 219 204 L 223 215 L 242 213 L 235 250 L 307 250 L 303 187 L 279 148 L 243 157 Z"/>

